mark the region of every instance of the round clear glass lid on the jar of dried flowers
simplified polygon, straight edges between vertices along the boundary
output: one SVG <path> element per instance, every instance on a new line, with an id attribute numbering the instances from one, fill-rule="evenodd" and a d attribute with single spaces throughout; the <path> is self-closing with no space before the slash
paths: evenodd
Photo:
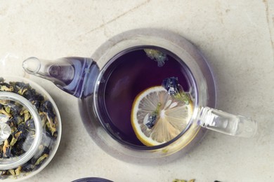
<path id="1" fill-rule="evenodd" d="M 39 148 L 42 126 L 35 106 L 20 94 L 0 92 L 0 170 L 29 161 Z"/>

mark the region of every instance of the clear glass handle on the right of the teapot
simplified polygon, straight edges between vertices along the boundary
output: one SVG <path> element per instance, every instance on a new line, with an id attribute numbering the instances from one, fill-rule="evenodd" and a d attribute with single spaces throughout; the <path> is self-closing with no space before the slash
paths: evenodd
<path id="1" fill-rule="evenodd" d="M 257 123 L 251 118 L 209 107 L 202 107 L 198 116 L 200 126 L 209 130 L 245 138 L 254 137 L 256 134 Z"/>

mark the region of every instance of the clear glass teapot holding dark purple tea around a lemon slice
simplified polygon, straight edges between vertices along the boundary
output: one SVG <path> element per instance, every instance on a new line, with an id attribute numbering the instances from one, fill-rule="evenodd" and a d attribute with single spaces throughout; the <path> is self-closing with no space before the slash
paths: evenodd
<path id="1" fill-rule="evenodd" d="M 119 158 L 158 158 L 187 151 L 202 139 L 206 129 L 239 137 L 256 133 L 254 120 L 213 109 L 216 85 L 209 65 L 193 44 L 170 31 L 134 29 L 110 38 L 92 58 L 49 61 L 30 57 L 22 66 L 27 73 L 51 80 L 78 97 L 81 118 L 91 138 Z M 140 107 L 136 97 L 167 77 L 176 78 L 188 93 L 191 113 L 172 139 L 145 144 L 136 134 L 139 129 L 132 127 L 132 113 Z M 144 126 L 143 121 L 139 124 Z"/>

